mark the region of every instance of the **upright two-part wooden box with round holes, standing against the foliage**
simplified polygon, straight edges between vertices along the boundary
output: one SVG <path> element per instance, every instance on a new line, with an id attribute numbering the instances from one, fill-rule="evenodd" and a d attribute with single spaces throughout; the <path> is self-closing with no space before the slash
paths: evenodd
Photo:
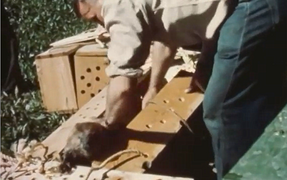
<path id="1" fill-rule="evenodd" d="M 48 112 L 74 113 L 109 83 L 107 48 L 99 44 L 51 48 L 35 62 Z"/>

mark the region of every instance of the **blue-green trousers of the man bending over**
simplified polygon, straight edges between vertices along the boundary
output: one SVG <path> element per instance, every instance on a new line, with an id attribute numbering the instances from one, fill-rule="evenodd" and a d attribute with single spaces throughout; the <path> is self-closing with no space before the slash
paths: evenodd
<path id="1" fill-rule="evenodd" d="M 220 30 L 203 101 L 219 180 L 286 104 L 286 3 L 239 0 Z"/>

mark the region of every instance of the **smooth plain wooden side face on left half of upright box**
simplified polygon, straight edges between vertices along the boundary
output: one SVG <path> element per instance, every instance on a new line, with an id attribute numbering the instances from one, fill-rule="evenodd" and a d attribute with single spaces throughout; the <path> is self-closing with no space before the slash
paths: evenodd
<path id="1" fill-rule="evenodd" d="M 71 64 L 68 56 L 36 59 L 37 75 L 47 111 L 78 109 Z"/>

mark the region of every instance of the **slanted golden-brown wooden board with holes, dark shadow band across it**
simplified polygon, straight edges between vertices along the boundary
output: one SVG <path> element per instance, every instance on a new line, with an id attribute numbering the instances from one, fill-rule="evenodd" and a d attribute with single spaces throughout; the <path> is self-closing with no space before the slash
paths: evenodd
<path id="1" fill-rule="evenodd" d="M 201 93 L 184 93 L 189 82 L 190 77 L 174 78 L 121 133 L 120 142 L 126 144 L 127 149 L 140 150 L 149 157 L 123 155 L 107 167 L 116 166 L 118 170 L 130 172 L 145 171 L 143 164 L 152 162 L 160 154 L 181 128 L 181 118 L 187 119 L 203 100 Z"/>

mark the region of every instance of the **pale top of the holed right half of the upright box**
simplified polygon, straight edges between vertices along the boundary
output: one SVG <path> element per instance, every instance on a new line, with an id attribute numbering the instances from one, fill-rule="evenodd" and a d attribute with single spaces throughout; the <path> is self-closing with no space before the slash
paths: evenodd
<path id="1" fill-rule="evenodd" d="M 108 49 L 102 48 L 99 44 L 90 44 L 81 47 L 76 52 L 77 56 L 107 56 Z"/>

